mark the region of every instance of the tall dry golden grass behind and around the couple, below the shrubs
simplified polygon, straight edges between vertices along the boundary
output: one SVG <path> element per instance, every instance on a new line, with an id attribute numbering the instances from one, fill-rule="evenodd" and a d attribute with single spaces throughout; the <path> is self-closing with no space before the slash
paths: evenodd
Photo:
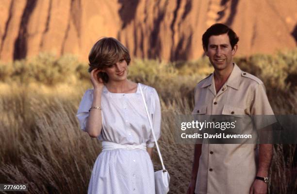
<path id="1" fill-rule="evenodd" d="M 158 66 L 157 61 L 139 60 L 130 67 L 132 80 L 156 88 L 161 97 L 163 117 L 159 143 L 171 176 L 171 194 L 184 194 L 190 179 L 194 146 L 175 143 L 173 120 L 177 114 L 191 113 L 193 89 L 211 71 L 209 65 L 204 64 L 205 59 L 201 61 Z M 291 66 L 290 71 L 296 64 Z M 6 84 L 0 84 L 1 183 L 28 183 L 31 194 L 86 193 L 101 148 L 99 141 L 79 129 L 75 117 L 84 90 L 91 87 L 87 74 L 82 71 L 85 66 L 78 67 L 82 69 L 76 67 L 80 72 L 75 73 L 76 76 L 63 78 L 61 82 L 61 76 L 57 76 L 59 79 L 52 79 L 57 82 L 54 84 L 28 81 L 30 76 L 22 76 L 28 81 L 26 84 L 17 76 L 3 78 Z M 202 72 L 196 68 L 201 68 Z M 194 69 L 194 73 L 189 69 Z M 254 70 L 258 69 L 251 69 Z M 287 77 L 297 72 L 292 71 L 288 73 L 286 70 Z M 261 73 L 259 75 L 266 76 Z M 286 79 L 282 76 L 280 79 L 274 76 L 273 82 L 272 78 L 269 79 L 268 98 L 276 114 L 296 114 L 296 88 L 294 83 L 289 87 L 283 86 L 281 82 Z M 293 194 L 297 191 L 296 174 L 292 174 L 296 168 L 295 149 L 295 145 L 275 145 L 270 194 Z M 156 153 L 153 162 L 156 170 L 161 169 Z"/>

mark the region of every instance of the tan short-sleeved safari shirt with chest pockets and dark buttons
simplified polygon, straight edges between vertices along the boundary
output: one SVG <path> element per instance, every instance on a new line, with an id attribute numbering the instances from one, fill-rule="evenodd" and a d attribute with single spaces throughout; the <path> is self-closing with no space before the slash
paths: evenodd
<path id="1" fill-rule="evenodd" d="M 263 82 L 234 68 L 216 93 L 214 74 L 195 88 L 198 115 L 273 115 Z M 202 144 L 196 194 L 248 194 L 256 176 L 255 144 Z"/>

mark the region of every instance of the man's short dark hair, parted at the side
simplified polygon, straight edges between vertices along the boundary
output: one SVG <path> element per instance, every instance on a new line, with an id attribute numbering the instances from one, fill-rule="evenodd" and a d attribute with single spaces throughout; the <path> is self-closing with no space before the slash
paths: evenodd
<path id="1" fill-rule="evenodd" d="M 210 36 L 212 36 L 212 35 L 223 35 L 223 34 L 226 34 L 226 33 L 229 36 L 230 44 L 231 44 L 231 47 L 233 49 L 235 44 L 237 44 L 237 42 L 239 40 L 239 37 L 236 35 L 236 33 L 231 28 L 229 28 L 225 24 L 221 24 L 221 23 L 216 23 L 216 24 L 212 25 L 202 35 L 203 49 L 205 51 L 207 51 Z"/>

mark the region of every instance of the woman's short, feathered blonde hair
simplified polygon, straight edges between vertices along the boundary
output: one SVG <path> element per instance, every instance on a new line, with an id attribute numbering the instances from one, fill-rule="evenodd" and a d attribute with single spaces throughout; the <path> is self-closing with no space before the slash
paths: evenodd
<path id="1" fill-rule="evenodd" d="M 104 37 L 98 40 L 89 53 L 89 69 L 103 70 L 104 68 L 114 65 L 121 58 L 124 58 L 129 65 L 131 58 L 128 49 L 113 37 Z M 108 82 L 108 75 L 104 72 L 99 73 L 103 82 Z"/>

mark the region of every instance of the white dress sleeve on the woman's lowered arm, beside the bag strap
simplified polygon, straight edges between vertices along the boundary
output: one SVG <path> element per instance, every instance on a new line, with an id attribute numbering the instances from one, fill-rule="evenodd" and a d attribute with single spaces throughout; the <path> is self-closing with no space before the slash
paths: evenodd
<path id="1" fill-rule="evenodd" d="M 161 135 L 161 105 L 158 93 L 155 88 L 152 89 L 149 97 L 150 99 L 150 112 L 152 115 L 152 125 L 154 128 L 156 139 L 158 140 Z M 147 141 L 147 147 L 154 147 L 154 137 L 151 133 Z"/>

